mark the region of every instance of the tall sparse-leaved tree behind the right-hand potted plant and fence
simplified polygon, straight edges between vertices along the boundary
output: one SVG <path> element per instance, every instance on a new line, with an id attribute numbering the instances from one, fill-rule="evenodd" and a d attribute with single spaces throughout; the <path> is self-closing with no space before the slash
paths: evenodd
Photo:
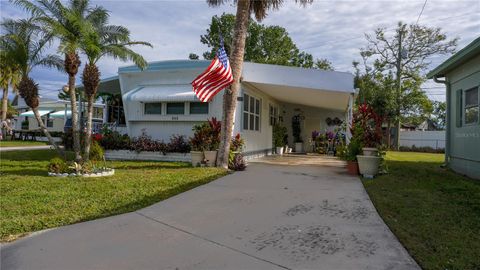
<path id="1" fill-rule="evenodd" d="M 430 64 L 429 57 L 453 53 L 457 39 L 447 40 L 440 28 L 407 25 L 402 22 L 398 23 L 392 36 L 387 36 L 384 28 L 376 29 L 374 35 L 365 36 L 368 46 L 361 49 L 362 57 L 372 59 L 378 72 L 395 74 L 395 139 L 398 149 L 402 111 L 418 109 L 411 101 L 425 96 L 420 85 L 425 80 L 422 73 Z"/>

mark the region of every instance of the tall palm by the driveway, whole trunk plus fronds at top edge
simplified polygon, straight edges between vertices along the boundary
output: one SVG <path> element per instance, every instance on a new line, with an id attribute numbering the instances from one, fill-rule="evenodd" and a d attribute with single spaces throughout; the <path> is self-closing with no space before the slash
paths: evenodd
<path id="1" fill-rule="evenodd" d="M 311 3 L 313 0 L 295 0 L 302 5 Z M 210 6 L 220 6 L 227 0 L 207 0 Z M 243 68 L 243 56 L 245 53 L 245 39 L 250 15 L 253 13 L 258 21 L 267 16 L 267 11 L 275 10 L 282 6 L 283 0 L 234 0 L 237 5 L 235 17 L 235 28 L 233 32 L 232 53 L 230 55 L 230 66 L 232 67 L 233 84 L 223 95 L 223 121 L 220 148 L 217 158 L 219 167 L 228 168 L 228 155 L 233 129 L 233 117 L 237 106 L 237 95 L 240 90 L 240 77 Z"/>

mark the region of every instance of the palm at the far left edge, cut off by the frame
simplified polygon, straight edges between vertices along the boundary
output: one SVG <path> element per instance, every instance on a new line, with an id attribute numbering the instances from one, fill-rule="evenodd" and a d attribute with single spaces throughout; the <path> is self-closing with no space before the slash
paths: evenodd
<path id="1" fill-rule="evenodd" d="M 20 82 L 20 70 L 6 57 L 4 51 L 0 52 L 0 88 L 3 90 L 2 96 L 2 121 L 7 119 L 8 111 L 8 89 L 11 87 L 13 92 L 17 94 L 17 85 Z"/>

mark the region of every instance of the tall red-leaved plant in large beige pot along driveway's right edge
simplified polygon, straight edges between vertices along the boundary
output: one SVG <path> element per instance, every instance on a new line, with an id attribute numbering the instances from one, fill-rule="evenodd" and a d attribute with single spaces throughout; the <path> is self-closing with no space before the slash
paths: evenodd
<path id="1" fill-rule="evenodd" d="M 382 160 L 378 156 L 377 147 L 382 140 L 382 119 L 372 107 L 367 104 L 360 105 L 354 114 L 354 131 L 361 141 L 363 155 L 357 155 L 360 174 L 366 178 L 373 178 L 377 173 Z"/>

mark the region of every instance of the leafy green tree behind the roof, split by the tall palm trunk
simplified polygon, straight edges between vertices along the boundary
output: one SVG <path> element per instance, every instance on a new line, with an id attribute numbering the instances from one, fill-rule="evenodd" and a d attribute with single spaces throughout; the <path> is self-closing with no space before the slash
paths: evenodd
<path id="1" fill-rule="evenodd" d="M 222 14 L 213 16 L 209 28 L 200 36 L 200 42 L 210 50 L 203 53 L 205 59 L 213 59 L 219 46 L 220 33 L 224 39 L 227 55 L 232 51 L 235 15 Z M 245 61 L 317 68 L 317 63 L 329 63 L 327 60 L 313 60 L 309 53 L 300 51 L 289 36 L 287 30 L 280 26 L 266 26 L 249 21 L 245 40 Z"/>

